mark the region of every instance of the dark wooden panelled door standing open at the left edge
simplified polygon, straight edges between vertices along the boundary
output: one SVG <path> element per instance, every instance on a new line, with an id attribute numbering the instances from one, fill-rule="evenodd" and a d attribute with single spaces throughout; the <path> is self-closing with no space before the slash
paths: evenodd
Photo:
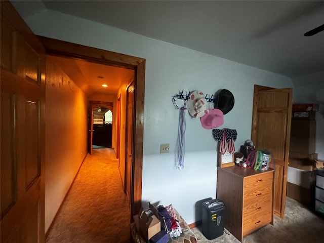
<path id="1" fill-rule="evenodd" d="M 1 1 L 1 242 L 45 241 L 45 50 Z"/>

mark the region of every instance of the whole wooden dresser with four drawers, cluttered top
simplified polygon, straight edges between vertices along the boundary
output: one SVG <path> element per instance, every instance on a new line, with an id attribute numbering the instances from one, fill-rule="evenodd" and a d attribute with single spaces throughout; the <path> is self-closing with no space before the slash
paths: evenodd
<path id="1" fill-rule="evenodd" d="M 225 228 L 238 240 L 273 224 L 274 170 L 218 168 L 217 199 L 226 205 Z"/>

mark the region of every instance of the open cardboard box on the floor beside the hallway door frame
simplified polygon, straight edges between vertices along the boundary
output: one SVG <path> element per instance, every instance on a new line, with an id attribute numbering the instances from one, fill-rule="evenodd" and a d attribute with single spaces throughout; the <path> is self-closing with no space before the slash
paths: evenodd
<path id="1" fill-rule="evenodd" d="M 149 204 L 149 209 L 143 211 L 141 207 L 139 213 L 134 215 L 134 222 L 139 236 L 149 242 L 149 239 L 161 231 L 161 223 L 157 210 Z"/>

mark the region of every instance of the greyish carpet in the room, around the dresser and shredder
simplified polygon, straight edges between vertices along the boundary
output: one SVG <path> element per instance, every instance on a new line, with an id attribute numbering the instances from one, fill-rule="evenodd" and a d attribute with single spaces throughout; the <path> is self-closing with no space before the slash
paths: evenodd
<path id="1" fill-rule="evenodd" d="M 213 240 L 205 238 L 201 226 L 193 228 L 200 243 L 232 242 L 239 243 L 232 234 L 224 233 Z M 227 230 L 225 229 L 225 232 Z M 228 231 L 227 231 L 228 232 Z M 287 197 L 285 218 L 274 216 L 273 225 L 267 225 L 243 238 L 244 243 L 320 243 L 324 242 L 324 220 L 302 206 L 298 201 Z"/>

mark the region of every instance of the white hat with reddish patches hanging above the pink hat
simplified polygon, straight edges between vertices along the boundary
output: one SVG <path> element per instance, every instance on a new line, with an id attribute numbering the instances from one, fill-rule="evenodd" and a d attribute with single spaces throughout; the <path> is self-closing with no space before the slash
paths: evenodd
<path id="1" fill-rule="evenodd" d="M 192 117 L 199 118 L 207 113 L 207 100 L 203 92 L 193 91 L 187 100 L 187 109 Z"/>

